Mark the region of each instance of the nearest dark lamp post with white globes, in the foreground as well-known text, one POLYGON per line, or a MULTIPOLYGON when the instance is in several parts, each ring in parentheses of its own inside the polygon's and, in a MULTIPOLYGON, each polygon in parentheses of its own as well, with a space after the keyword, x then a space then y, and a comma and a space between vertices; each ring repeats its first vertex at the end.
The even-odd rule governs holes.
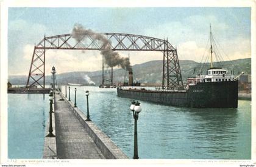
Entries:
POLYGON ((138 140, 137 140, 137 120, 138 114, 141 112, 140 102, 133 101, 130 105, 130 110, 134 118, 134 149, 133 149, 133 159, 138 159, 138 140))

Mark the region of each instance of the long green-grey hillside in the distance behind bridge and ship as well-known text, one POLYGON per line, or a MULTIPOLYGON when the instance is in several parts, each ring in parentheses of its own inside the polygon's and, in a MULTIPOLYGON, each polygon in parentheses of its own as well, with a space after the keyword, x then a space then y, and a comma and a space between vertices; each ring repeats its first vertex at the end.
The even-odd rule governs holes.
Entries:
MULTIPOLYGON (((148 83, 161 83, 162 82, 162 60, 154 60, 138 65, 133 65, 133 80, 138 82, 148 82, 148 83)), ((205 74, 207 68, 210 66, 209 63, 202 64, 194 62, 193 60, 180 60, 180 70, 182 72, 182 79, 187 80, 187 77, 195 76, 196 74, 205 74), (201 71, 199 71, 201 67, 201 71)), ((229 70, 235 71, 235 74, 245 71, 246 74, 251 74, 251 59, 238 59, 232 61, 222 62, 221 65, 214 64, 214 66, 222 66, 229 70)), ((124 69, 114 69, 113 71, 113 82, 127 82, 128 74, 124 69)), ((91 80, 96 85, 102 82, 102 71, 81 71, 81 72, 69 72, 57 74, 57 83, 67 84, 67 83, 79 83, 86 85, 91 80)), ((13 85, 26 85, 27 76, 9 76, 9 82, 13 85)), ((51 76, 46 76, 46 85, 51 82, 51 76)))

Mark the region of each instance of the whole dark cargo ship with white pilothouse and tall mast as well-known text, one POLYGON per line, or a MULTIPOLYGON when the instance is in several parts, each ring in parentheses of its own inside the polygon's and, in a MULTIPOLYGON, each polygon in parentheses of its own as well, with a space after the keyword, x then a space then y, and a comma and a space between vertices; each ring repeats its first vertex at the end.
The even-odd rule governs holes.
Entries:
POLYGON ((119 97, 155 102, 179 107, 237 108, 238 77, 227 69, 213 67, 212 30, 210 27, 210 68, 205 75, 187 79, 183 90, 146 90, 146 88, 117 88, 119 97))

